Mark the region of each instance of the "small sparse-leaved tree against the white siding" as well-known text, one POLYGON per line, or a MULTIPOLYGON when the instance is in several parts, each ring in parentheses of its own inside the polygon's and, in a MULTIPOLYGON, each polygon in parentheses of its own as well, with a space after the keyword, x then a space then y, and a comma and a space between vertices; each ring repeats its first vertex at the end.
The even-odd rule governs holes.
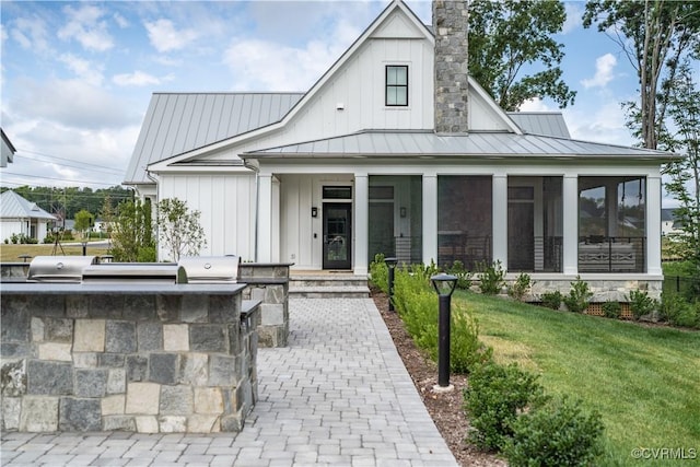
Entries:
POLYGON ((158 203, 159 241, 174 261, 179 261, 183 255, 198 255, 207 245, 199 215, 199 211, 190 211, 187 203, 177 198, 165 198, 158 203))

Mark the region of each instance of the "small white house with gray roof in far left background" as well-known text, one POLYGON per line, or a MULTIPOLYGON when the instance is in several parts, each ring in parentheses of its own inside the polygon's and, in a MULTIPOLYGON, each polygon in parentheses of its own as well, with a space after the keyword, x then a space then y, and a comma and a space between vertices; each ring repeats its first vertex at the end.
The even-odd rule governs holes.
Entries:
POLYGON ((56 218, 35 202, 27 201, 12 190, 0 195, 0 240, 10 241, 12 235, 26 235, 44 242, 47 224, 56 218))

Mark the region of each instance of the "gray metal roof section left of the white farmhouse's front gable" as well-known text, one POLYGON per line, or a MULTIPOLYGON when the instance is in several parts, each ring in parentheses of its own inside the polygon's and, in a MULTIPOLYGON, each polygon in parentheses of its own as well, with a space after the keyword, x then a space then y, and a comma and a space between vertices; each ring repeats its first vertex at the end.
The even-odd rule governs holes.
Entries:
POLYGON ((152 183, 145 167, 275 124, 304 93, 154 93, 125 183, 152 183))

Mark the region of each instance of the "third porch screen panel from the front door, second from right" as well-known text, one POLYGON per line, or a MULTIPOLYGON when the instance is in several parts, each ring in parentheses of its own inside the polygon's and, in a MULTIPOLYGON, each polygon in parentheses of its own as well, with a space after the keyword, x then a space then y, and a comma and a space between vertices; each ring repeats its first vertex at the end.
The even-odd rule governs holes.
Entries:
POLYGON ((562 177, 508 178, 508 270, 561 272, 562 177))

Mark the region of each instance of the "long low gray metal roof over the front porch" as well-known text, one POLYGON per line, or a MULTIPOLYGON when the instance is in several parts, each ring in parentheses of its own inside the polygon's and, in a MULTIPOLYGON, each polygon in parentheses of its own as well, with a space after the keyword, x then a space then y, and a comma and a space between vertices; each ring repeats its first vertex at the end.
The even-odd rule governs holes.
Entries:
POLYGON ((337 138, 307 141, 252 151, 244 159, 262 157, 361 157, 361 156, 431 156, 458 155, 517 157, 633 157, 666 160, 676 157, 663 151, 628 148, 567 138, 506 132, 470 132, 465 136, 435 135, 433 131, 360 131, 337 138))

